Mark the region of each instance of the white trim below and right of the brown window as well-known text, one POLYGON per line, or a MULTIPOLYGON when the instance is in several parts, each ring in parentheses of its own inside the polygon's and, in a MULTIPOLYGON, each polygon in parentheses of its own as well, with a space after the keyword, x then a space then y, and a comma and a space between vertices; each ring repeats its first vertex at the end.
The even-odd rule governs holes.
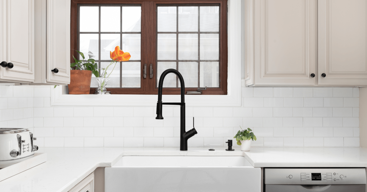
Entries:
MULTIPOLYGON (((185 95, 186 106, 241 106, 241 0, 228 0, 228 95, 185 95)), ((180 95, 163 95, 179 102, 180 95)), ((157 95, 66 95, 51 88, 52 106, 155 106, 157 95)))

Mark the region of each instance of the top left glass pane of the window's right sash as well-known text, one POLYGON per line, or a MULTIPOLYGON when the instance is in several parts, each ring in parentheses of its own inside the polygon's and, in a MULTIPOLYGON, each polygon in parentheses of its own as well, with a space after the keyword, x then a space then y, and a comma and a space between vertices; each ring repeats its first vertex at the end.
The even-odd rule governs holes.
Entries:
POLYGON ((159 32, 176 32, 177 7, 158 7, 157 27, 159 32))

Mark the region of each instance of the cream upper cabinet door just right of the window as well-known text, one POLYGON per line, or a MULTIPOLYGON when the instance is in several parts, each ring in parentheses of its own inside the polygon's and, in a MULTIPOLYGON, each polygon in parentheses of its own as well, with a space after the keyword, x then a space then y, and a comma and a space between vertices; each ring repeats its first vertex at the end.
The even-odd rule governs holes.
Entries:
POLYGON ((315 85, 315 0, 255 1, 255 86, 315 85))

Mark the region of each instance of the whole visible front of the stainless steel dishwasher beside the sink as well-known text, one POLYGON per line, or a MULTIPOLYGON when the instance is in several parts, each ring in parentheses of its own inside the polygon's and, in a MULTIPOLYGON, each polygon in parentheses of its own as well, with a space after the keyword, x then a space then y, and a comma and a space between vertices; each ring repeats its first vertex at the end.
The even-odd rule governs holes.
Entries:
POLYGON ((264 192, 366 192, 365 168, 265 168, 264 192))

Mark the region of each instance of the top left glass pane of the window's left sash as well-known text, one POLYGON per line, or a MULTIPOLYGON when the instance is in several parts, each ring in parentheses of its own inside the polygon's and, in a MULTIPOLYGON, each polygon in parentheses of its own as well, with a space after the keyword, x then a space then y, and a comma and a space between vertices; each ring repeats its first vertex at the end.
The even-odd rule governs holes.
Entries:
POLYGON ((80 32, 98 32, 98 7, 80 7, 80 32))

